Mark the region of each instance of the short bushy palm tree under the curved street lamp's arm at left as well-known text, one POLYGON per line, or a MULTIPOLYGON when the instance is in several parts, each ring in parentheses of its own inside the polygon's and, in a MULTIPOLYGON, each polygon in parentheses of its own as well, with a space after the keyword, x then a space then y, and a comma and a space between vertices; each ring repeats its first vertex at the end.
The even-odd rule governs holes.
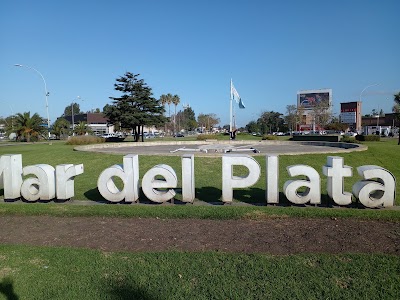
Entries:
POLYGON ((18 113, 15 115, 14 125, 16 128, 17 139, 26 138, 27 142, 31 138, 38 138, 39 135, 45 132, 45 128, 41 125, 44 120, 37 113, 31 116, 31 112, 18 113))

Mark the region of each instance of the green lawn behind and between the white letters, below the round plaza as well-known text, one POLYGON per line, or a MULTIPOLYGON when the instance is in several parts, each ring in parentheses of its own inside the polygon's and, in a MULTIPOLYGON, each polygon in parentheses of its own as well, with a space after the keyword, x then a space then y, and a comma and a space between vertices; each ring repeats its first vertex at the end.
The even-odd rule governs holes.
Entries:
MULTIPOLYGON (((352 185, 361 179, 356 171, 356 168, 361 165, 378 165, 391 171, 396 178, 400 178, 400 167, 398 164, 398 161, 400 161, 400 148, 395 139, 386 139, 381 142, 367 142, 365 144, 368 146, 367 151, 340 154, 344 158, 345 164, 353 167, 353 176, 344 180, 346 191, 351 192, 352 185)), ((92 201, 103 200, 97 190, 97 179, 100 173, 114 164, 122 164, 123 157, 122 155, 73 151, 73 146, 65 145, 63 142, 55 142, 51 145, 37 143, 0 147, 0 154, 6 153, 22 154, 24 166, 39 163, 47 163, 52 166, 63 163, 83 163, 85 171, 75 179, 74 199, 92 201)), ((298 156, 283 155, 279 157, 279 187, 282 203, 285 203, 282 194, 283 184, 285 181, 291 179, 287 174, 286 167, 295 164, 305 164, 315 168, 319 172, 321 177, 322 202, 324 205, 328 205, 327 180, 322 173, 322 166, 326 164, 327 156, 327 154, 308 154, 298 156)), ((265 157, 258 156, 256 160, 261 166, 261 178, 254 186, 235 190, 234 200, 237 202, 249 204, 265 203, 265 157)), ((141 155, 139 156, 140 177, 150 168, 160 163, 170 165, 176 171, 179 181, 176 198, 178 200, 181 199, 180 157, 141 155)), ((243 169, 235 168, 235 175, 244 175, 244 173, 243 169)), ((209 203, 222 203, 222 160, 220 157, 195 157, 195 187, 196 199, 209 203)), ((396 194, 399 195, 400 189, 398 185, 396 191, 396 194)), ((398 197, 396 204, 400 204, 398 197)), ((190 210, 190 208, 184 209, 190 210)))

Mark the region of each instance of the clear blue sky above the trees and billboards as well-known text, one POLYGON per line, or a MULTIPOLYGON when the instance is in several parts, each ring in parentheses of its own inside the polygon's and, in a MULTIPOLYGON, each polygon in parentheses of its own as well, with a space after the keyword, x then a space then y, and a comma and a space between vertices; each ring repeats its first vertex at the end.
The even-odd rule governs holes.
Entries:
MULTIPOLYGON (((390 112, 400 91, 400 1, 0 2, 0 116, 51 122, 77 96, 109 103, 115 79, 139 73, 154 97, 178 94, 196 113, 229 123, 229 82, 246 104, 238 125, 285 113, 299 90, 331 88, 333 111, 357 101, 390 112)), ((182 106, 178 106, 182 109, 182 106)))

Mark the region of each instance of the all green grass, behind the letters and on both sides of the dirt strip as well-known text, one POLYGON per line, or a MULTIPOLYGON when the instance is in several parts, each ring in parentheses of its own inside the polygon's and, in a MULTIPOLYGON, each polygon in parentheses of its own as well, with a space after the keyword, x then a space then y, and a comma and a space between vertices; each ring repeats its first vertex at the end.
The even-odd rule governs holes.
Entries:
MULTIPOLYGON (((400 178, 400 146, 395 140, 368 142, 365 152, 340 154, 352 166, 346 190, 359 180, 355 168, 375 164, 400 178)), ((83 163, 76 178, 76 199, 96 200, 97 178, 105 168, 122 163, 122 155, 73 151, 62 142, 52 145, 15 144, 0 154, 19 153, 23 165, 83 163)), ((281 156, 280 187, 288 180, 286 167, 306 164, 326 179, 325 154, 281 156)), ((257 157, 261 166, 265 158, 257 157)), ((140 156, 140 175, 152 166, 171 165, 180 178, 179 157, 140 156)), ((221 158, 195 158, 196 197, 216 202, 221 197, 221 158)), ((240 172, 240 170, 239 170, 240 172)), ((249 189, 235 190, 242 202, 264 197, 265 170, 249 189)), ((399 188, 397 187, 397 192, 399 188)), ((397 193, 398 194, 398 193, 397 193)), ((179 196, 179 195, 178 195, 179 196)), ((399 204, 399 199, 396 200, 399 204)), ((262 219, 279 215, 352 217, 399 221, 400 211, 382 209, 324 209, 299 207, 194 205, 0 205, 2 214, 57 216, 115 216, 162 218, 262 219)), ((7 230, 7 228, 2 228, 7 230)), ((385 254, 271 256, 222 252, 102 252, 73 248, 0 245, 0 299, 399 299, 400 259, 385 254)))

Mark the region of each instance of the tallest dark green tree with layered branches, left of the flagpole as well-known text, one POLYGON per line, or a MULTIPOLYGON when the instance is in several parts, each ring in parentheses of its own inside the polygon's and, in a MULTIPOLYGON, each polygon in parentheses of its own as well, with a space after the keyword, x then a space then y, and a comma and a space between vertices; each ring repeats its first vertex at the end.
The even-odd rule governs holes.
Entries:
POLYGON ((117 78, 114 88, 122 95, 110 97, 113 104, 104 107, 104 114, 112 124, 120 123, 122 128, 132 129, 136 142, 144 126, 160 126, 167 121, 161 102, 152 97, 151 88, 139 75, 127 72, 117 78))

